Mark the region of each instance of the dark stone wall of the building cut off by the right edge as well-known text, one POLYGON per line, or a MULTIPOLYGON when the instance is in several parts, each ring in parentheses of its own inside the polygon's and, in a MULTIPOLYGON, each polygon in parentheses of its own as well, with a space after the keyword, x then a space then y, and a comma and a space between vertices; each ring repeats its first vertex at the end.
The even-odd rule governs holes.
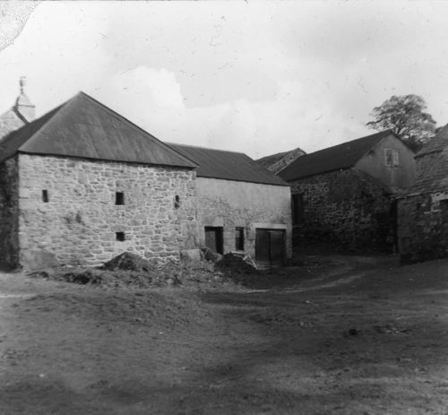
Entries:
POLYGON ((398 217, 401 263, 448 256, 448 194, 401 199, 398 217))

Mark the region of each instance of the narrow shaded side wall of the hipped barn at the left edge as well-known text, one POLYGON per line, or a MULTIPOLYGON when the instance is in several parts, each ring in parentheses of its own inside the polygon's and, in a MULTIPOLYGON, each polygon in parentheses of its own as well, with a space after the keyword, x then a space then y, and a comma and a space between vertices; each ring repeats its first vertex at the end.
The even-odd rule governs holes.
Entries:
POLYGON ((17 159, 0 163, 0 267, 12 269, 19 263, 17 159))

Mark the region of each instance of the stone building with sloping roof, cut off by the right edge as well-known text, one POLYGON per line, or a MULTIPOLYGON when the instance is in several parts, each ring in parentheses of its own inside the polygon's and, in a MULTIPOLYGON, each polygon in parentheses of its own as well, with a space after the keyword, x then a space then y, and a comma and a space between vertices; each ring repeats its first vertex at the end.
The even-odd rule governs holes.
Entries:
POLYGON ((448 256, 448 125, 416 155, 414 186, 398 202, 401 262, 448 256))

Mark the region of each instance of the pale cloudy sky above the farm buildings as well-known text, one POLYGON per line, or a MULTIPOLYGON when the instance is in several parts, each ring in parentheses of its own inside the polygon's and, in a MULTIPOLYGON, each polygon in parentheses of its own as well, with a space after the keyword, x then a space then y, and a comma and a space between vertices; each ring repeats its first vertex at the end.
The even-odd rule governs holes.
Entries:
POLYGON ((418 94, 448 123, 448 2, 2 7, 0 113, 23 75, 38 116, 84 91, 162 141, 254 159, 373 134, 392 95, 418 94))

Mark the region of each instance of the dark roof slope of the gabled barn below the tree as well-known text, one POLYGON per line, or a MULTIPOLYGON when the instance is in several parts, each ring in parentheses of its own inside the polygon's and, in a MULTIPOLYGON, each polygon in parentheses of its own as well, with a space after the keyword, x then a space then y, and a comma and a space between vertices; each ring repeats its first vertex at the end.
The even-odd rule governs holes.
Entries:
POLYGON ((367 135, 366 137, 352 140, 305 154, 293 161, 285 169, 280 170, 278 175, 287 181, 298 178, 310 177, 334 170, 349 169, 361 159, 367 151, 371 150, 384 137, 392 134, 390 130, 381 133, 367 135))

